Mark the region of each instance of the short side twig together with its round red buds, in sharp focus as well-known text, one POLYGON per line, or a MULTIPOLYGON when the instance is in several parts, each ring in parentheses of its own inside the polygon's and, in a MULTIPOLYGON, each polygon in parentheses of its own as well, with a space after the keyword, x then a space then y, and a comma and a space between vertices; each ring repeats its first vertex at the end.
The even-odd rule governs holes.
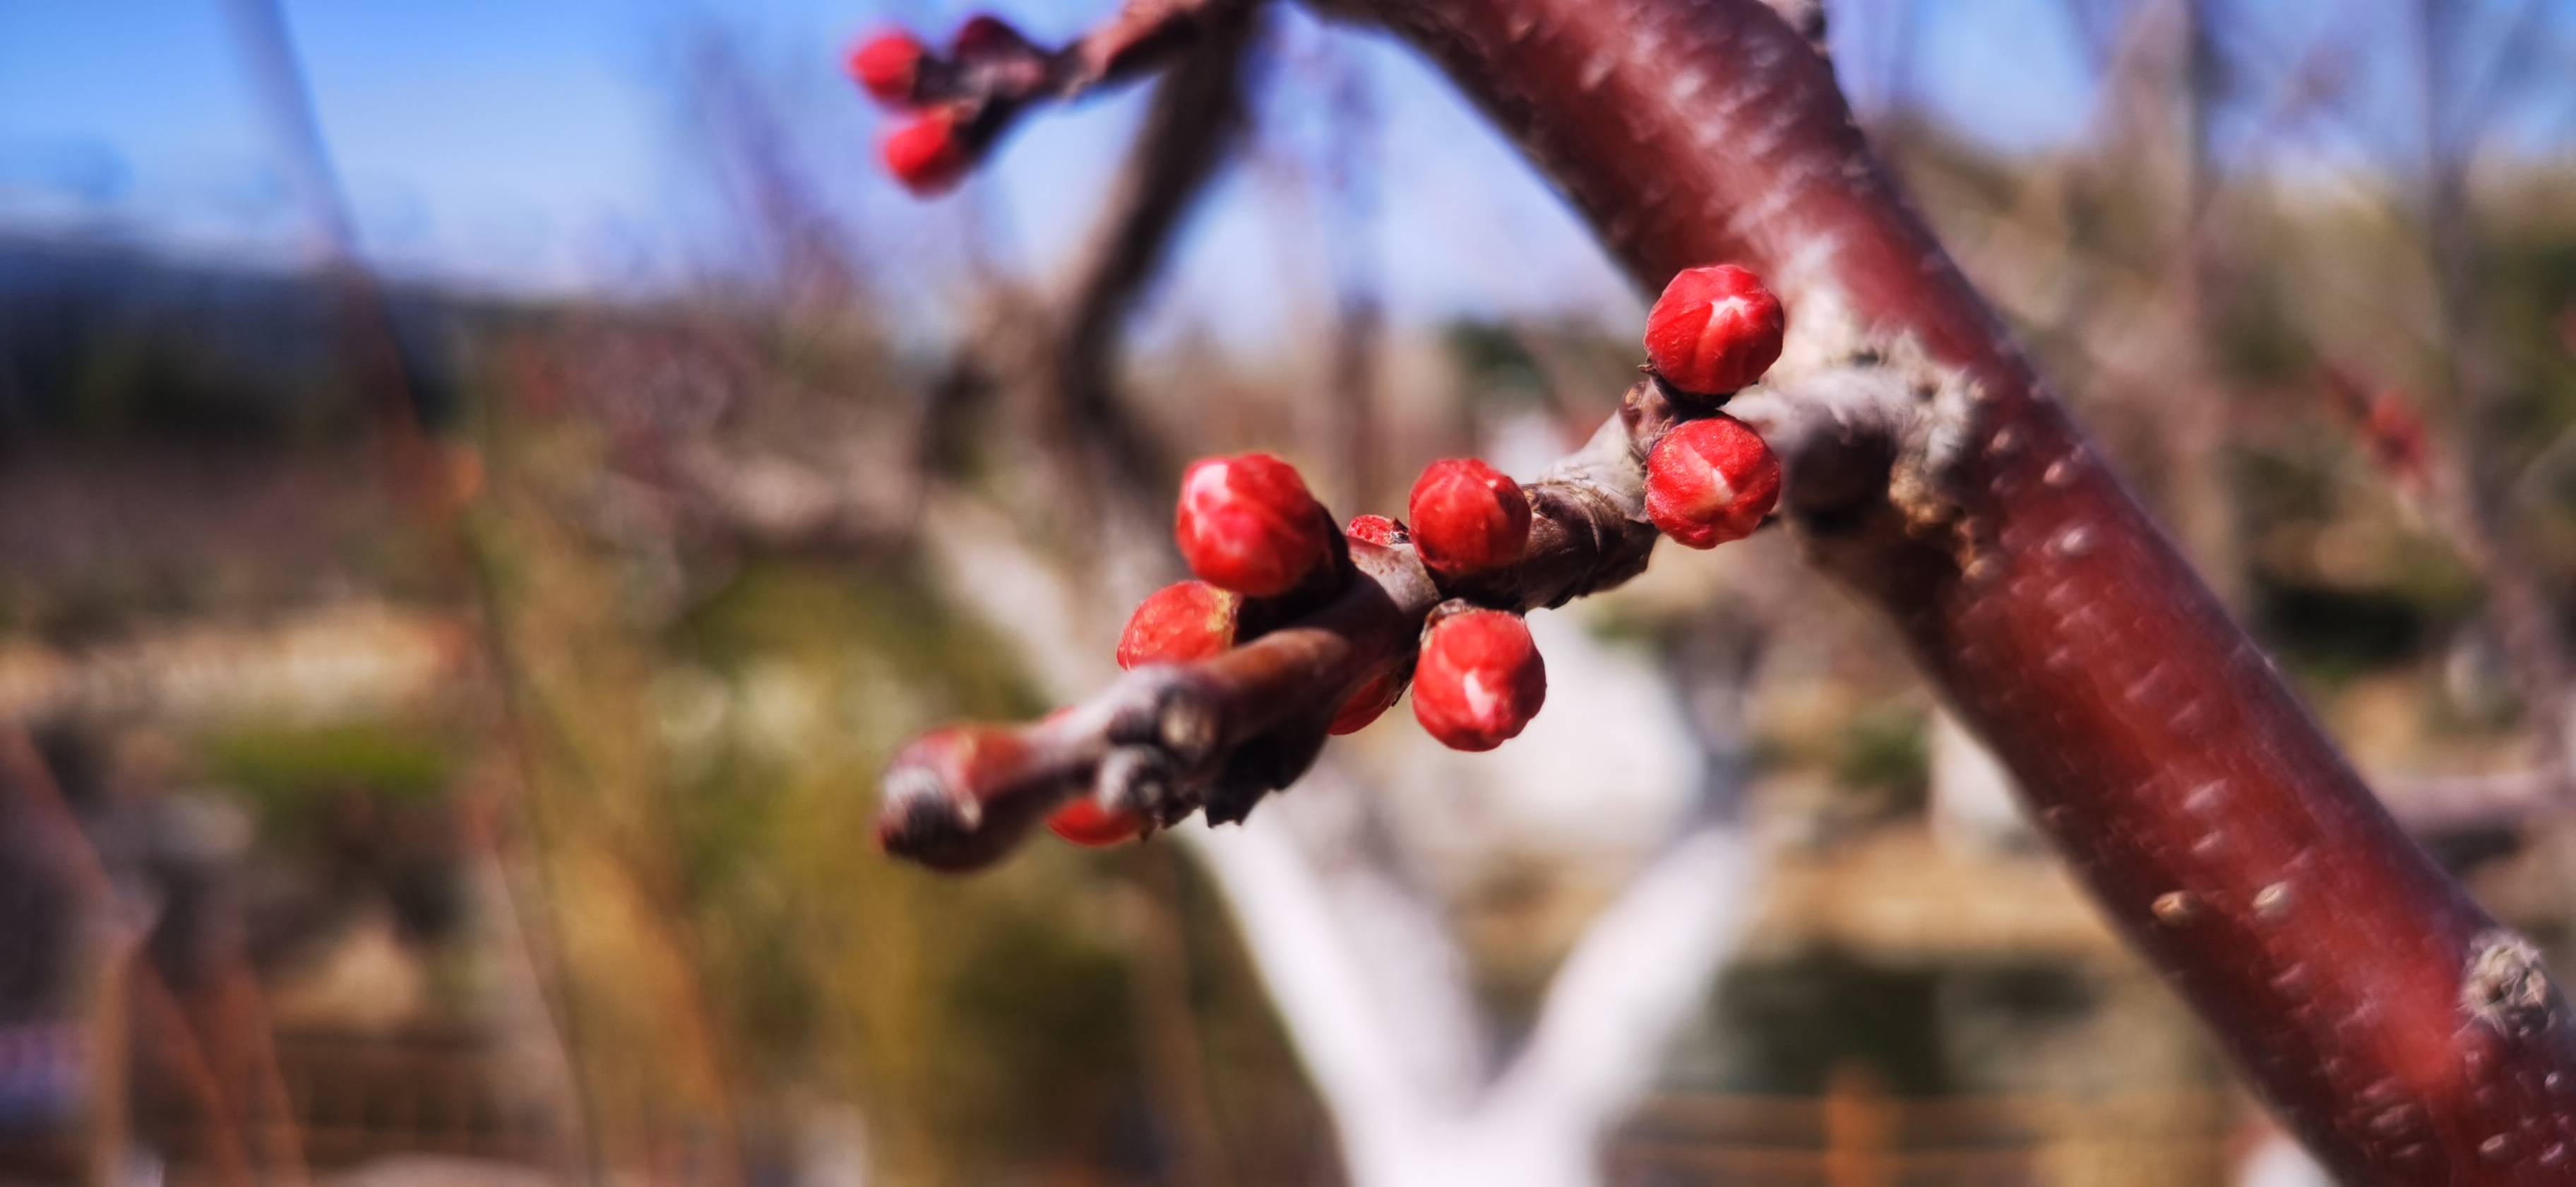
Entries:
MULTIPOLYGON (((881 75, 894 90, 902 72, 881 75)), ((1525 610, 1633 577, 1656 533, 1713 548, 1770 515, 1780 461, 1721 407, 1780 355, 1783 327, 1780 301, 1741 268, 1677 276, 1649 314, 1649 379, 1592 448, 1530 487, 1476 458, 1432 461, 1409 523, 1358 515, 1337 528, 1267 453, 1193 463, 1172 536, 1195 579, 1128 618, 1128 680, 1036 726, 914 742, 886 780, 881 837, 974 865, 1033 814, 1077 845, 1144 837, 1198 808, 1242 819, 1327 734, 1368 726, 1406 687, 1430 736, 1502 747, 1548 695, 1525 610)))

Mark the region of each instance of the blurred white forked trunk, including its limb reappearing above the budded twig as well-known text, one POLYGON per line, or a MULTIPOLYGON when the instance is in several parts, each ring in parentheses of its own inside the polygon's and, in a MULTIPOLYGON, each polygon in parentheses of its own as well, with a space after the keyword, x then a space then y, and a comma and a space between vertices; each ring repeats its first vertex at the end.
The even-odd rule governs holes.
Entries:
MULTIPOLYGON (((943 505, 925 528, 948 587, 1046 687, 1079 695, 1105 677, 1113 628, 1064 621, 1061 608, 1082 603, 1007 523, 943 505)), ((1692 700, 1734 713, 1739 698, 1692 700)), ((1762 875, 1734 811, 1734 724, 1700 726, 1708 775, 1692 811, 1584 927, 1528 1045, 1492 1074, 1466 958, 1440 904, 1370 845, 1368 788, 1324 762, 1293 796, 1267 801, 1255 827, 1175 829, 1224 893, 1340 1128, 1352 1184, 1600 1182, 1602 1138, 1654 1087, 1664 1048, 1705 1004, 1762 875), (1314 832, 1329 839, 1314 845, 1314 832)))

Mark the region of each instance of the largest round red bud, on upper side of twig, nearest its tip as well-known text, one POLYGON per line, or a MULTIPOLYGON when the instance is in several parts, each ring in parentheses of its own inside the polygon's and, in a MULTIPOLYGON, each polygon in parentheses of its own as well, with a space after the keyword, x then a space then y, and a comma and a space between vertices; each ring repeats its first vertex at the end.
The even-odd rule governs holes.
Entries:
POLYGON ((1180 476, 1172 536, 1190 572, 1226 590, 1275 597, 1332 554, 1332 520, 1296 466, 1267 453, 1206 458, 1180 476))

